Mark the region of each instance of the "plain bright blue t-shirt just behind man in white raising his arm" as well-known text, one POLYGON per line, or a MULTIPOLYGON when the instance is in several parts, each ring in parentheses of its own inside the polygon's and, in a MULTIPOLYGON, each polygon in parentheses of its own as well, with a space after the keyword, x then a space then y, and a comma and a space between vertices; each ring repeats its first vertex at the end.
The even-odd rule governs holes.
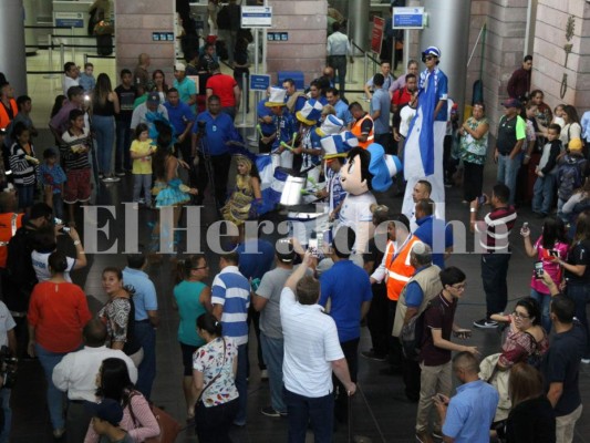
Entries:
POLYGON ((373 298, 371 281, 364 269, 351 260, 339 260, 320 277, 319 305, 331 300, 330 317, 337 323, 341 343, 361 336, 361 305, 373 298))

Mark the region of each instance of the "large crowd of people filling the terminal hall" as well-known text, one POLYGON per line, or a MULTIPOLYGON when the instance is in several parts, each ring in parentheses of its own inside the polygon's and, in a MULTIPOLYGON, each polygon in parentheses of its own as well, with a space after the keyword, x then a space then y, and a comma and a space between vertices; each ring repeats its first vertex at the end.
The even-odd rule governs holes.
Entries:
MULTIPOLYGON (((218 257, 210 287, 208 257, 177 262, 182 385, 199 442, 231 441, 231 425, 247 424, 250 328, 269 380, 270 404, 261 413, 286 416, 290 442, 303 442, 308 426, 318 442, 329 442, 334 422, 349 421, 359 354, 387 361, 385 373, 403 375, 407 400, 417 403, 420 442, 572 441, 582 410, 579 369, 590 363, 590 112, 581 121, 571 105, 551 112, 542 91, 530 91, 527 55, 508 83, 491 150, 498 183, 486 194, 485 105, 476 102, 470 116, 458 115, 438 69, 439 49, 423 52, 423 72, 411 60, 398 79, 383 61, 364 86, 366 112, 344 96, 350 47, 338 22, 333 31, 322 76, 307 91, 287 79, 257 103, 259 155, 244 150, 234 124, 246 105, 241 86, 221 73, 213 43, 188 64, 174 65, 172 87, 164 72, 149 72, 148 54, 138 56, 133 72, 121 71, 116 87, 104 73, 94 80, 90 63, 82 74, 65 63, 64 94, 49 123, 56 148, 45 150, 42 161, 34 151, 32 100, 14 99, 2 75, 0 344, 39 359, 55 439, 146 441, 161 432, 149 406, 159 324, 146 274, 149 251, 128 255, 124 269, 102 270, 107 301, 95 316, 70 277, 87 265, 77 206, 89 204, 93 188, 101 192, 131 173, 137 210, 173 206, 176 227, 183 207, 203 205, 209 187, 218 217, 238 226, 236 247, 218 257), (427 101, 431 85, 435 94, 427 101), (414 116, 431 105, 434 146, 445 153, 434 156, 444 185, 405 171, 407 183, 397 176, 392 187, 400 162, 393 155, 410 164, 404 153, 413 147, 414 116), (234 156, 238 175, 228 189, 234 156), (328 207, 329 241, 320 247, 293 236, 271 245, 245 228, 278 208, 260 158, 269 159, 272 177, 277 171, 306 177, 310 200, 328 207), (445 265, 457 233, 438 213, 441 190, 460 175, 486 296, 485 317, 473 326, 507 324, 491 356, 464 344, 472 331, 457 324, 455 311, 467 276, 445 265), (405 193, 410 205, 395 210, 379 204, 372 189, 405 193), (544 219, 539 238, 531 239, 528 224, 519 231, 526 254, 536 258, 530 297, 507 315, 510 233, 517 208, 529 202, 544 219), (360 352, 362 322, 372 348, 360 352), (460 383, 454 396, 453 374, 460 383)), ((247 69, 241 56, 232 61, 247 69)), ((159 245, 161 230, 156 224, 151 247, 159 245)), ((10 434, 11 388, 0 390, 0 442, 10 434)))

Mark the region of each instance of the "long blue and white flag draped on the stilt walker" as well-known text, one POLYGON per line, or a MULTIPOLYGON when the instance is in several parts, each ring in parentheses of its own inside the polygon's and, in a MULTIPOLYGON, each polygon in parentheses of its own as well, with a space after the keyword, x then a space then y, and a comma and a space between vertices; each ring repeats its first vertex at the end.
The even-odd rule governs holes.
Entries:
POLYGON ((424 178, 434 174, 434 107, 436 87, 434 74, 426 79, 426 85, 418 94, 418 109, 410 123, 404 148, 404 177, 424 178))

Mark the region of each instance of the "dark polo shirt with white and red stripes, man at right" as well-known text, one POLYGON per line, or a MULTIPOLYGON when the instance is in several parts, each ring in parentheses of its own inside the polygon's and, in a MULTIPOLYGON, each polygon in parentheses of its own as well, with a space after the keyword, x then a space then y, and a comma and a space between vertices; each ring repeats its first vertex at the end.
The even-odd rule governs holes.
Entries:
POLYGON ((475 224, 479 234, 479 245, 487 253, 499 254, 510 251, 509 236, 516 223, 514 206, 498 207, 486 214, 484 222, 475 224))

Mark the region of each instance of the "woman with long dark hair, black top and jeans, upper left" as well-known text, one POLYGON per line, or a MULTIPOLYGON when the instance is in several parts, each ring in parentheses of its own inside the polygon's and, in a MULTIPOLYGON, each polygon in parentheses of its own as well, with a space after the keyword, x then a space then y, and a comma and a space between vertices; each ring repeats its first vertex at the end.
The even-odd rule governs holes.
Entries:
POLYGON ((111 169, 115 146, 115 114, 118 114, 120 111, 118 96, 113 91, 111 79, 105 73, 99 74, 96 87, 92 93, 92 128, 96 134, 99 177, 104 183, 114 183, 121 179, 111 169))

